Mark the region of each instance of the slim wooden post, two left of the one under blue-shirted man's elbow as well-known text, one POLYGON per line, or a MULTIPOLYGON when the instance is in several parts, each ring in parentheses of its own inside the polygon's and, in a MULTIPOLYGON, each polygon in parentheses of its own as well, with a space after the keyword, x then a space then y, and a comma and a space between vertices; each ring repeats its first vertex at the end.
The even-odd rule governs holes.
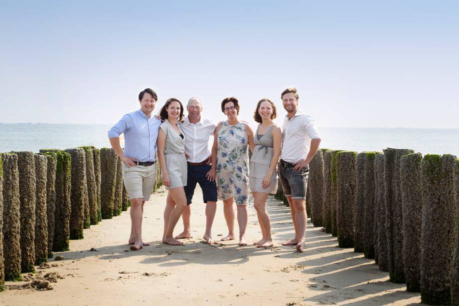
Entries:
POLYGON ((97 186, 95 183, 94 173, 94 153, 92 152, 92 147, 86 146, 81 148, 84 150, 84 156, 86 161, 86 189, 88 216, 86 216, 85 214, 85 218, 89 218, 90 225, 95 225, 99 222, 99 220, 97 216, 97 186))

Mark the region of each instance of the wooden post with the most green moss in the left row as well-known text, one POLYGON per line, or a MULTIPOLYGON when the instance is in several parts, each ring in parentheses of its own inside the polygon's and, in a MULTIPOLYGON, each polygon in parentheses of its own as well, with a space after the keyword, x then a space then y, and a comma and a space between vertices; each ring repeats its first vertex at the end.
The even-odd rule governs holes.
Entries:
POLYGON ((54 237, 52 251, 68 251, 70 239, 70 172, 71 158, 66 152, 56 152, 56 179, 55 179, 55 212, 54 237))

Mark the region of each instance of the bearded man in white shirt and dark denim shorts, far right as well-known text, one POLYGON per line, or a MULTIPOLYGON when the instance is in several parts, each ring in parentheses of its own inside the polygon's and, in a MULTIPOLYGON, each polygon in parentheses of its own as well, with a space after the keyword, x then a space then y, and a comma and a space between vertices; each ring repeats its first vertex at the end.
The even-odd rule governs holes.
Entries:
POLYGON ((280 95, 287 115, 282 125, 282 151, 279 178, 283 193, 290 205, 295 237, 282 246, 296 246, 304 251, 306 233, 306 186, 309 162, 317 153, 320 135, 311 116, 298 109, 296 88, 287 88, 280 95))

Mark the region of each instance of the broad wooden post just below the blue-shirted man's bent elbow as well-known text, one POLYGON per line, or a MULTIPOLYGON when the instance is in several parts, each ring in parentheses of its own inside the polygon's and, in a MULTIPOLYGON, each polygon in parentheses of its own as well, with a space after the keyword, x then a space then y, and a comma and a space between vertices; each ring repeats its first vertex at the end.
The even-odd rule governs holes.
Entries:
POLYGON ((100 206, 102 219, 113 217, 113 198, 118 156, 109 148, 100 149, 100 206))

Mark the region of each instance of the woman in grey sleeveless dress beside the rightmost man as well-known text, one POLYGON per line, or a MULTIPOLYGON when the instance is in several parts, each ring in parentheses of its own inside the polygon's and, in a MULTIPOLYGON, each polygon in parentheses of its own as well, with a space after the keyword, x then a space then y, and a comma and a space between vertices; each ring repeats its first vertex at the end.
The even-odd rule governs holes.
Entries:
POLYGON ((263 98, 258 101, 253 119, 259 124, 253 136, 255 148, 250 158, 249 172, 249 187, 262 234, 261 239, 253 243, 257 248, 272 246, 271 222, 266 211, 266 199, 269 194, 275 194, 277 191, 276 166, 282 141, 280 128, 272 122, 275 117, 275 105, 271 100, 263 98))

